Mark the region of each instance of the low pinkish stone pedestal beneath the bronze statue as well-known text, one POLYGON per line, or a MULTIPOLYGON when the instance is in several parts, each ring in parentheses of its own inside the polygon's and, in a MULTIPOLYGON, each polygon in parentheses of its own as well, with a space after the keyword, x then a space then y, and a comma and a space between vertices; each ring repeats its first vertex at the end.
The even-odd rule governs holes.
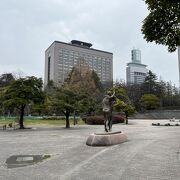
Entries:
POLYGON ((93 133, 86 141, 88 146, 111 146, 127 141, 127 136, 121 132, 93 133))

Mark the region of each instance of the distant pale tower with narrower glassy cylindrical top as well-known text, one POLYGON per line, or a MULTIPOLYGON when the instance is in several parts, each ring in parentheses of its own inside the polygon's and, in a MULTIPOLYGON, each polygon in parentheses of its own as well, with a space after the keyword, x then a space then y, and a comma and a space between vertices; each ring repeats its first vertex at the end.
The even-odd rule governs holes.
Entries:
POLYGON ((132 62, 127 63, 126 81, 127 84, 141 84, 144 82, 147 75, 147 65, 141 64, 141 51, 133 49, 131 51, 132 62))

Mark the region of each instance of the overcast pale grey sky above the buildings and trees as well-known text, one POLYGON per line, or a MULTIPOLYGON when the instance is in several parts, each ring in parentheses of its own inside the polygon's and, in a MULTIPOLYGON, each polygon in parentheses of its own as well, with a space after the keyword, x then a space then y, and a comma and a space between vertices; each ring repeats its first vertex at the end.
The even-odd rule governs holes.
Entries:
POLYGON ((143 0, 1 0, 0 74, 44 77, 44 52, 54 41, 77 39, 114 55, 114 80, 126 79, 131 50, 165 81, 178 85, 177 52, 143 39, 143 0))

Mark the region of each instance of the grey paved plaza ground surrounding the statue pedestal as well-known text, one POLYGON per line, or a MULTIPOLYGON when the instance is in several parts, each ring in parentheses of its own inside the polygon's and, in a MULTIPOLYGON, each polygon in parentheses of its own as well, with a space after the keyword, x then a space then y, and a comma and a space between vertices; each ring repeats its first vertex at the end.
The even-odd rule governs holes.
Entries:
POLYGON ((180 126, 153 122, 164 120, 113 125, 128 141, 107 147, 86 145, 89 134, 103 132, 103 126, 0 129, 0 180, 180 180, 180 126), (6 160, 14 155, 51 157, 8 168, 6 160))

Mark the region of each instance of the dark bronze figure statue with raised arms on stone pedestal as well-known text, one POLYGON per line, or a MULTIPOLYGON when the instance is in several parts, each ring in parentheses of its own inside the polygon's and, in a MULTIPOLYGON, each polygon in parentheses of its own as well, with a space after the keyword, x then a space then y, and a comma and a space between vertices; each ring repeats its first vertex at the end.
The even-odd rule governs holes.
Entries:
POLYGON ((116 100, 115 93, 111 94, 111 92, 108 91, 107 95, 105 95, 102 101, 103 113, 104 113, 104 128, 106 132, 108 132, 108 129, 109 131, 111 131, 112 129, 112 111, 115 100, 116 100))

